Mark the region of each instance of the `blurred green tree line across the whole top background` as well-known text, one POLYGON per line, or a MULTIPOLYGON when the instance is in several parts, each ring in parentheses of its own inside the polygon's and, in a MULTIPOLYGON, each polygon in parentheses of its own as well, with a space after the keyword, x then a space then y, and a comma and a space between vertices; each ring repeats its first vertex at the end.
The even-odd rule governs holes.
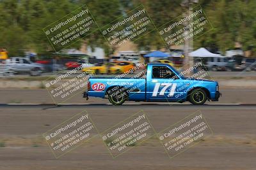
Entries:
MULTIPOLYGON (((51 51, 52 47, 42 29, 71 11, 86 4, 99 27, 111 23, 143 4, 156 27, 182 14, 182 0, 1 0, 0 1, 0 48, 10 55, 22 55, 24 50, 38 53, 51 51)), ((256 1, 255 0, 200 0, 213 29, 195 39, 195 48, 205 46, 214 51, 234 48, 240 42, 244 50, 256 52, 256 1)), ((152 25, 150 29, 156 27, 152 25)), ((70 47, 78 48, 82 42, 92 48, 100 46, 106 55, 113 52, 101 32, 95 31, 70 47)), ((163 39, 157 30, 137 39, 140 50, 163 48, 163 39)))

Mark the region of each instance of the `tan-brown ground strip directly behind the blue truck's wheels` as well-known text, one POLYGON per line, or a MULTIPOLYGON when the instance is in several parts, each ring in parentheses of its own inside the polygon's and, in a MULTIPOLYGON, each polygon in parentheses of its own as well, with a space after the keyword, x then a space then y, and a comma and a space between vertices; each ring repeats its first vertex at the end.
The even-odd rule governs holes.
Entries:
MULTIPOLYGON (((220 89, 222 96, 218 102, 206 104, 256 104, 256 89, 220 89)), ((108 99, 90 97, 88 101, 81 97, 82 91, 63 104, 108 104, 108 99)), ((0 89, 0 104, 54 104, 46 89, 0 89)), ((128 101, 125 104, 154 104, 128 101)), ((177 104, 177 103, 158 103, 177 104)), ((184 104, 189 104, 188 102, 184 104)))

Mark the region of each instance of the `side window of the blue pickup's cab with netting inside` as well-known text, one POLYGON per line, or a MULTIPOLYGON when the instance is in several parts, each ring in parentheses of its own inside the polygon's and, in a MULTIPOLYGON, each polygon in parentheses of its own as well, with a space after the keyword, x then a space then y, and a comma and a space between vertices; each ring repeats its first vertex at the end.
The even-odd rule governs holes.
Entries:
POLYGON ((177 75, 173 73, 166 66, 153 66, 152 78, 177 78, 177 75))

